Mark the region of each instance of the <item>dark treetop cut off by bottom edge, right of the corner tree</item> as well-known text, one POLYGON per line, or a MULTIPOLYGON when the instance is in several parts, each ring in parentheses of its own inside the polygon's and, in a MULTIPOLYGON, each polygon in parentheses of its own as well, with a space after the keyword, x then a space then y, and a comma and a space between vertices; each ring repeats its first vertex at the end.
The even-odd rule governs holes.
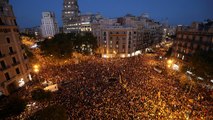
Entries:
POLYGON ((67 120, 68 116, 64 107, 59 105, 48 106, 36 112, 29 120, 67 120))

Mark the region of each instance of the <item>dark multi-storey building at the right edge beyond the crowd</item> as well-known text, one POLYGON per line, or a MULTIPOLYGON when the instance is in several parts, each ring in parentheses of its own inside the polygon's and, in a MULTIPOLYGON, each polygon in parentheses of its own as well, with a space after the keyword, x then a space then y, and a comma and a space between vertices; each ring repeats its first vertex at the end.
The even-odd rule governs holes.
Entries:
POLYGON ((173 57, 188 61, 197 50, 213 51, 213 20, 177 27, 173 57))

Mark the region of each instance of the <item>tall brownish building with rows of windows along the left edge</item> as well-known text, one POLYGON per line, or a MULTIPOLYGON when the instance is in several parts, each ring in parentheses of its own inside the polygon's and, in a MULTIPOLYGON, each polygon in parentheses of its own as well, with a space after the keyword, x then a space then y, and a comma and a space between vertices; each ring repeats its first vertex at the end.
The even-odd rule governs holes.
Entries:
POLYGON ((12 6, 0 1, 0 96, 9 95, 31 79, 12 6))

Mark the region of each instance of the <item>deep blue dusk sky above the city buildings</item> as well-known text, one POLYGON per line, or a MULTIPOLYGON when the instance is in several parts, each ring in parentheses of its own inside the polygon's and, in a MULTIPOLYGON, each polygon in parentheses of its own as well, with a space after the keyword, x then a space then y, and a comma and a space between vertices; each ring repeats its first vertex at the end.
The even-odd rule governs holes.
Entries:
MULTIPOLYGON (((63 0, 10 0, 10 4, 21 28, 39 26, 43 11, 55 12, 62 26, 63 0)), ((78 4, 81 13, 99 12, 107 18, 148 13, 157 21, 168 18, 171 25, 213 19, 213 0, 79 0, 78 4)))

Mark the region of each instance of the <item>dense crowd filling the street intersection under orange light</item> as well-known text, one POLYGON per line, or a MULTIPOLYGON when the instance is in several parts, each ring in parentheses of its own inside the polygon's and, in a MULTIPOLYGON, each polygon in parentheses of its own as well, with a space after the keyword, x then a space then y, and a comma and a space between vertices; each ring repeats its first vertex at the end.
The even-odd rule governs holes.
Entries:
POLYGON ((70 119, 212 119, 211 93, 186 89, 178 75, 154 71, 157 63, 150 56, 91 57, 46 65, 37 79, 60 85, 52 104, 63 105, 70 119))

